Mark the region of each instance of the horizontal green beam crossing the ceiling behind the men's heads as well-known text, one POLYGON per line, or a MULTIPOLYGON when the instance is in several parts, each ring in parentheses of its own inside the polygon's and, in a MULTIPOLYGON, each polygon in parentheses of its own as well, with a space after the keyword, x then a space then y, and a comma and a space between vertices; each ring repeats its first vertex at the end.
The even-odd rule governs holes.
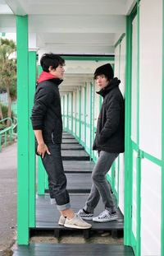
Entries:
POLYGON ((75 60, 75 61, 114 61, 115 57, 114 55, 111 56, 84 56, 84 55, 79 55, 79 56, 66 56, 66 55, 61 55, 62 58, 65 60, 75 60))

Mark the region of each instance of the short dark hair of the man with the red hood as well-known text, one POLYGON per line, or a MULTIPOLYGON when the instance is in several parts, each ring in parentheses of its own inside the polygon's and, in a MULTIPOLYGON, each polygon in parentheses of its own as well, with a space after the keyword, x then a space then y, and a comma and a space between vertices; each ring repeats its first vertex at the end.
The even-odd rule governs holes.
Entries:
POLYGON ((49 72, 48 68, 56 69, 59 65, 64 66, 65 60, 57 54, 43 54, 40 58, 40 65, 43 68, 43 71, 49 72))

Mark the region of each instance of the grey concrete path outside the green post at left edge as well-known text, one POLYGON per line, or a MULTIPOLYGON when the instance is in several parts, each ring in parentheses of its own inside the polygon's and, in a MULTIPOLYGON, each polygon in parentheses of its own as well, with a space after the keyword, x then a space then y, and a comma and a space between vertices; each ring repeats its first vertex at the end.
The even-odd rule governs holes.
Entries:
POLYGON ((0 152, 0 255, 16 240, 16 142, 0 152))

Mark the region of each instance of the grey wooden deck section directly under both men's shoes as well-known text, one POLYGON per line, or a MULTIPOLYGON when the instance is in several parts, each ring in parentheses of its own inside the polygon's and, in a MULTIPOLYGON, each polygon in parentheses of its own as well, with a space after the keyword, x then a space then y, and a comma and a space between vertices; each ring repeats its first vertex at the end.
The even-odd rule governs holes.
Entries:
MULTIPOLYGON (((84 207, 84 203, 88 198, 89 193, 70 193, 71 207, 75 212, 78 212, 80 208, 84 207)), ((94 215, 98 216, 100 212, 103 212, 103 202, 100 200, 98 206, 95 209, 94 215)), ((57 207, 50 204, 49 195, 37 196, 36 198, 36 228, 34 230, 66 230, 64 226, 58 225, 59 212, 57 207)), ((106 223, 98 223, 88 221, 91 223, 92 230, 123 230, 124 221, 121 211, 118 209, 118 219, 116 221, 109 221, 106 223)))

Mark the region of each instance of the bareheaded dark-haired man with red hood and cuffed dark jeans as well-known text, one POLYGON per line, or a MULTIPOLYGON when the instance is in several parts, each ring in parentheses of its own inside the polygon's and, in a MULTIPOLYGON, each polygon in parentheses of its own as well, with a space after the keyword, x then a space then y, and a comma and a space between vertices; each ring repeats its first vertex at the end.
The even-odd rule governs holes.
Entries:
POLYGON ((31 121, 36 137, 36 152, 41 156, 48 173, 48 187, 52 204, 57 204, 61 217, 59 225, 75 229, 89 229, 91 225, 83 221, 71 210, 70 197, 66 190, 66 175, 63 170, 62 113, 58 86, 64 76, 65 61, 55 54, 43 54, 43 67, 34 95, 31 121))

